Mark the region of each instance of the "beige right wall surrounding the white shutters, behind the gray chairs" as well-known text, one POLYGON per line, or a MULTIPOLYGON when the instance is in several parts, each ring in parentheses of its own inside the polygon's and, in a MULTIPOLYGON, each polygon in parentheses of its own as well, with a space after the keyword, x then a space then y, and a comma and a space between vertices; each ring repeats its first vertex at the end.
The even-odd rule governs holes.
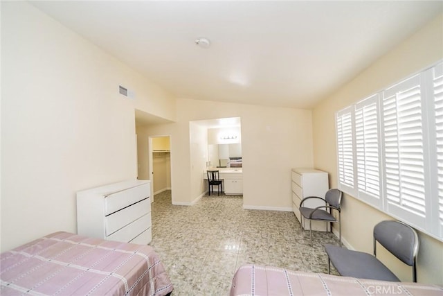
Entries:
MULTIPOLYGON (((399 44, 347 85, 341 87, 313 111, 314 164, 329 172, 329 184, 337 186, 336 134, 334 113, 402 78, 431 66, 443 58, 443 16, 399 44)), ((342 231, 345 241, 356 250, 372 252, 372 228, 380 220, 391 219, 377 209, 345 195, 342 231)), ((443 243, 420 234, 418 280, 443 284, 443 243)), ((381 254, 382 260, 403 280, 410 280, 410 269, 397 259, 381 254)))

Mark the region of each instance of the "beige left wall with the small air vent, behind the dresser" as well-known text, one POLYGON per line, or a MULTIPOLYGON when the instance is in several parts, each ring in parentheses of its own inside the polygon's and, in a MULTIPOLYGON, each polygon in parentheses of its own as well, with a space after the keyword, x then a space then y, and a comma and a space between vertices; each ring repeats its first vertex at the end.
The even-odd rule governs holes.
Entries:
POLYGON ((175 116, 167 92, 24 1, 1 2, 1 74, 2 251, 76 232, 75 191, 136 177, 135 108, 175 116))

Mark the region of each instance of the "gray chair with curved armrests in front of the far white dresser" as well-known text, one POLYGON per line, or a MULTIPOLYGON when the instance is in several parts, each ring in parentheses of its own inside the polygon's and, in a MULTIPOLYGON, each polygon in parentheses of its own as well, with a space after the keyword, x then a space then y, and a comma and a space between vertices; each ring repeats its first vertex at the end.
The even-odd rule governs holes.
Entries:
MULTIPOLYGON (((326 222, 326 231, 327 226, 330 223, 338 223, 338 234, 339 234, 339 240, 341 245, 341 198, 343 197, 343 192, 341 192, 338 189, 329 189, 326 194, 325 198, 319 198, 318 196, 308 196, 307 198, 303 198, 300 202, 300 216, 302 217, 302 228, 305 229, 305 219, 309 220, 309 230, 311 234, 311 246, 312 246, 312 220, 317 221, 325 221, 326 222), (316 207, 316 208, 309 208, 309 207, 303 207, 303 203, 306 200, 310 199, 319 199, 323 200, 325 202, 324 206, 316 207), (338 219, 336 219, 332 215, 332 210, 338 211, 338 219)), ((331 227, 332 231, 332 227, 331 227)))

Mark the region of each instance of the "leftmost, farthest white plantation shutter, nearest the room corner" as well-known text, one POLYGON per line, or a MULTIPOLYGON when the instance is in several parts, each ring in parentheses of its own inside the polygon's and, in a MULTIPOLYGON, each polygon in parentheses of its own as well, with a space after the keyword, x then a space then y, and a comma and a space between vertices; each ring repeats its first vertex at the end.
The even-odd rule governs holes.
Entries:
POLYGON ((354 193, 354 143, 352 108, 336 113, 338 189, 354 193))

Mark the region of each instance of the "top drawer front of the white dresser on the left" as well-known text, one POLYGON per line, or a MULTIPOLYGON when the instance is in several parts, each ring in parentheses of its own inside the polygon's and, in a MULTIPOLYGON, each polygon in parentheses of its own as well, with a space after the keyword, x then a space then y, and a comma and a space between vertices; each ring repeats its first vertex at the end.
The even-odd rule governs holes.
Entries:
POLYGON ((150 191, 150 184, 147 183, 108 195, 105 198, 105 215, 114 213, 114 211, 147 198, 150 195, 150 191))

